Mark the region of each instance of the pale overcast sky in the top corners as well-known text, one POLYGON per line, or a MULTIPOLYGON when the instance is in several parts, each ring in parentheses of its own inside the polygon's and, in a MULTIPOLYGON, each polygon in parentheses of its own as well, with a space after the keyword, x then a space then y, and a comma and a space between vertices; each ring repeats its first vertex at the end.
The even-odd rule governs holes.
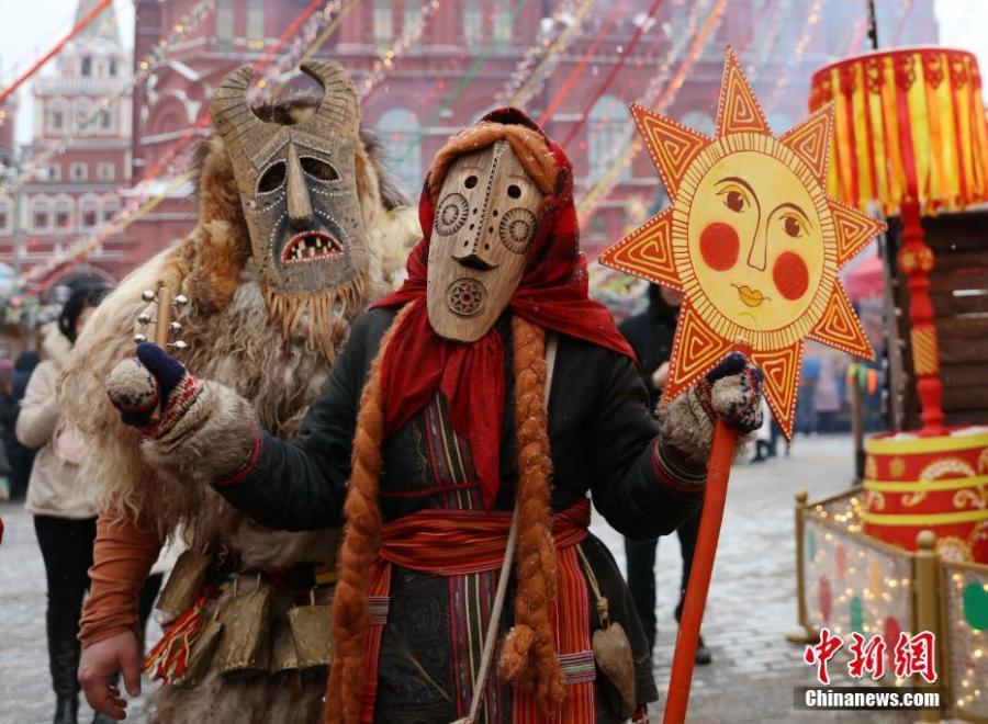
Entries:
MULTIPOLYGON (((885 0, 891 1, 891 0, 885 0)), ((824 0, 824 8, 864 7, 864 0, 824 0)), ((972 50, 988 68, 988 0, 935 0, 941 44, 972 50)), ((124 46, 133 45, 132 0, 114 0, 124 46)), ((900 0, 902 8, 910 0, 900 0)), ((72 26, 78 0, 0 0, 0 88, 31 66, 72 26)), ((879 29, 879 38, 880 38, 879 29)), ((20 93, 18 139, 31 139, 30 91, 20 93)))

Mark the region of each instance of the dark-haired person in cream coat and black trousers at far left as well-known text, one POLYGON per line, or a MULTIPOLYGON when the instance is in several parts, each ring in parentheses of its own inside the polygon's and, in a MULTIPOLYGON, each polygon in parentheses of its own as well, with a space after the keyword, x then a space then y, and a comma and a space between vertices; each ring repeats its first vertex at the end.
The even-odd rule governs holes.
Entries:
MULTIPOLYGON (((79 476, 87 450, 76 428, 63 419, 56 384, 76 337, 108 290, 72 292, 57 326, 42 343, 45 359, 34 369, 18 416, 16 437, 25 448, 40 448, 31 472, 25 509, 45 562, 48 607, 45 623, 48 666, 55 690, 55 724, 75 724, 79 706, 79 616, 89 588, 96 540, 99 480, 79 476)), ((160 579, 158 579, 160 584, 160 579)), ((96 722, 103 720, 98 715, 96 722)))

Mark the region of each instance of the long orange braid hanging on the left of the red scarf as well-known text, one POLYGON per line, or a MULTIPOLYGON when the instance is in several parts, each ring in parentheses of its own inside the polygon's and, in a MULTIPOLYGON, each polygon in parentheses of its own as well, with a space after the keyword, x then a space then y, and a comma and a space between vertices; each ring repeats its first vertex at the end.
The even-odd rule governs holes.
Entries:
POLYGON ((384 437, 381 363, 391 336, 411 308, 408 305, 397 314, 381 340, 360 395, 352 472, 344 504, 347 522, 339 554, 339 579, 333 598, 333 664, 323 712, 326 724, 356 724, 360 721, 360 701, 367 680, 364 649, 370 632, 368 572, 381 547, 381 508, 378 505, 384 437))

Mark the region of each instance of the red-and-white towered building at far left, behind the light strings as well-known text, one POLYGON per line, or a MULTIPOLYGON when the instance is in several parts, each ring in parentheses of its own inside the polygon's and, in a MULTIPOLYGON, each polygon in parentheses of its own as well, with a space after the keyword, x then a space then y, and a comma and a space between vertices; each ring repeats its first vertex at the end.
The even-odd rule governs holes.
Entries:
MULTIPOLYGON (((77 21, 94 4, 96 0, 80 0, 77 21)), ((34 79, 32 142, 21 149, 22 163, 37 162, 40 155, 86 125, 65 151, 0 196, 0 262, 30 269, 80 236, 96 233, 117 213, 121 189, 131 178, 131 101, 125 95, 102 110, 100 101, 123 88, 130 76, 131 59, 111 7, 34 79)), ((9 128, 12 132, 12 123, 9 128)), ((124 271, 119 251, 98 249, 91 260, 92 272, 108 279, 124 271)))

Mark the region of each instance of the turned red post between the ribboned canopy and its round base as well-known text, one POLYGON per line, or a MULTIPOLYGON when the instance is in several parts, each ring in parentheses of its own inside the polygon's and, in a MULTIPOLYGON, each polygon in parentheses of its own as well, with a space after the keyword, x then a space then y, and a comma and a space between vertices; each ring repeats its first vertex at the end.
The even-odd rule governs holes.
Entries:
POLYGON ((916 391, 920 398, 920 419, 923 427, 920 435, 946 434, 941 407, 940 347, 936 327, 933 326, 933 304, 930 301, 930 271, 933 269, 933 251, 927 245, 923 225, 920 220, 919 202, 903 201, 901 204, 902 249, 899 251, 899 268, 906 274, 909 289, 909 341, 912 347, 912 371, 916 375, 916 391))

